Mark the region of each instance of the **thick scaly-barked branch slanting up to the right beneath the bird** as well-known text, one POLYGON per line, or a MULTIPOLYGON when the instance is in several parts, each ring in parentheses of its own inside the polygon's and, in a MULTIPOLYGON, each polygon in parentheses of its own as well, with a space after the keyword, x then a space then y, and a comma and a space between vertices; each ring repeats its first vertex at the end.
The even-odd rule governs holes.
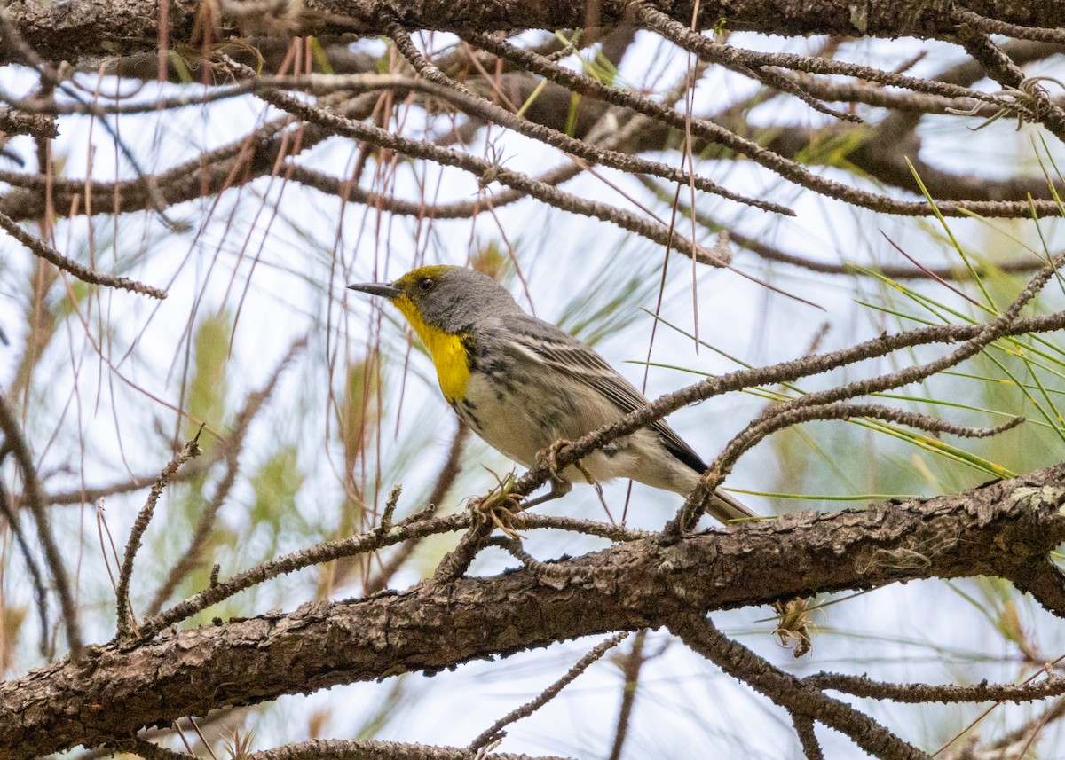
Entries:
POLYGON ((437 673, 677 616, 919 578, 996 575, 1065 616, 1065 465, 963 494, 634 541, 491 578, 89 647, 0 684, 0 757, 406 672, 437 673))

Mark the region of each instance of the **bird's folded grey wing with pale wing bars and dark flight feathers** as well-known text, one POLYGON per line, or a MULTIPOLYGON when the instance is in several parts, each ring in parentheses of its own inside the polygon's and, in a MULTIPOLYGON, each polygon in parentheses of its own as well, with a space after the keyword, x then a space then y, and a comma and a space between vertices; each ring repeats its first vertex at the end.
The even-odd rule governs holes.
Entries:
MULTIPOLYGON (((508 332, 523 348, 547 366, 579 378, 610 399, 622 414, 645 407, 646 396, 604 361, 591 347, 550 323, 527 315, 514 325, 508 319, 508 332), (517 328, 517 329, 514 329, 517 328)), ((697 473, 706 472, 706 464, 679 435, 659 419, 648 426, 661 440, 667 450, 697 473)))

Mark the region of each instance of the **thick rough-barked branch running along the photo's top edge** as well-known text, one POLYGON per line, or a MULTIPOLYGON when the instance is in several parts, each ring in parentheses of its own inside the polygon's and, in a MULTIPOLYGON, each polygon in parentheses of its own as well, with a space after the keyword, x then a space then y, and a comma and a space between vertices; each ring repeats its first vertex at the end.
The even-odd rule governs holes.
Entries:
MULTIPOLYGON (((240 2, 230 2, 239 7, 240 2)), ((285 3, 279 2, 278 6, 285 3)), ((296 3, 290 2, 293 7, 296 3)), ((307 0, 302 10, 279 22, 299 33, 383 34, 391 10, 408 29, 492 32, 515 29, 576 29, 617 24, 628 5, 620 0, 307 0)), ((258 6, 262 6, 259 4, 258 6)), ((661 2, 677 21, 691 22, 691 2, 661 2)), ((732 31, 782 35, 869 35, 943 37, 956 22, 947 0, 718 0, 702 1, 697 26, 712 29, 724 21, 732 31)), ((976 13, 1007 23, 1052 29, 1065 27, 1065 0, 988 0, 966 3, 976 13)), ((169 9, 171 47, 193 44, 200 4, 180 0, 169 9)), ((281 14, 283 15, 283 11, 281 14)), ((160 38, 159 6, 142 0, 22 0, 9 5, 16 28, 46 59, 81 59, 154 52, 160 38)), ((260 17, 262 14, 258 14, 260 17)), ((261 21, 262 19, 258 19, 261 21)), ((232 28, 228 30, 232 31, 232 28)), ((0 42, 0 56, 12 48, 0 42)))

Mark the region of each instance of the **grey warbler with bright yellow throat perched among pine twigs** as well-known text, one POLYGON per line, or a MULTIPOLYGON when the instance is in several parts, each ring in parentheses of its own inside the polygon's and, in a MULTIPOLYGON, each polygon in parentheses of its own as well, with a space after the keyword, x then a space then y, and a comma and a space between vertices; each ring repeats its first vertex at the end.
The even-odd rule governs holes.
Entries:
MULTIPOLYGON (((576 440, 648 403, 590 346, 526 314, 505 287, 474 269, 424 266, 395 282, 348 287, 399 309, 432 357, 440 390, 459 418, 527 467, 556 441, 576 440)), ((632 478, 688 494, 704 472, 699 455, 658 420, 557 473, 553 495, 589 478, 632 478)), ((722 522, 757 516, 720 492, 708 511, 722 522)))

